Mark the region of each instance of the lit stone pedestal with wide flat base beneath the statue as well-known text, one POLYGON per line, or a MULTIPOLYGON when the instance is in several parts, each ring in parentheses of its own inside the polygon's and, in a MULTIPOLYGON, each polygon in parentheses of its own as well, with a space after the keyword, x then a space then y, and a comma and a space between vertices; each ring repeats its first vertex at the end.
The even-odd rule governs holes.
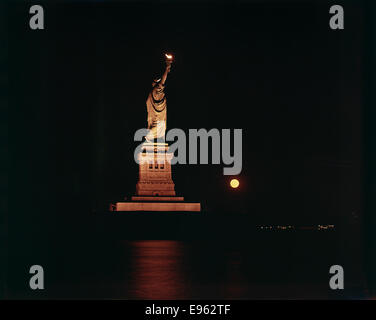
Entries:
POLYGON ((111 211, 201 211, 201 204, 177 197, 167 143, 144 143, 138 154, 139 177, 131 201, 111 204, 111 211))

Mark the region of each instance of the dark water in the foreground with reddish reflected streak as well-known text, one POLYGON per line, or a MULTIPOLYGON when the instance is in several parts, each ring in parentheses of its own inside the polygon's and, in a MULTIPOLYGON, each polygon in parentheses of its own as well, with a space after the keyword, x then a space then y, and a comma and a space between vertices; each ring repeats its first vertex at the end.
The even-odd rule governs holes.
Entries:
POLYGON ((38 252, 30 250, 22 258, 13 257, 13 266, 44 266, 46 289, 38 293, 28 289, 27 269, 16 267, 9 270, 7 297, 362 298, 361 261, 349 250, 338 243, 336 232, 258 232, 233 240, 122 240, 71 235, 38 252), (329 289, 328 272, 333 264, 345 269, 344 291, 329 289))

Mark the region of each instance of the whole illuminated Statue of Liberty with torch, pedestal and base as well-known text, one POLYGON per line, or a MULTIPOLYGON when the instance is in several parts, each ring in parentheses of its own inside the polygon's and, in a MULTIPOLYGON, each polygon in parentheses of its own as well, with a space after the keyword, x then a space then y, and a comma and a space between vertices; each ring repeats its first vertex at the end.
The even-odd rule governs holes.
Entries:
POLYGON ((171 70, 172 55, 166 54, 166 70, 161 79, 153 81, 153 89, 146 100, 148 131, 146 142, 136 149, 139 164, 136 194, 130 201, 111 204, 111 211, 201 211, 199 202, 186 202, 176 196, 172 180, 173 152, 164 141, 166 133, 167 104, 164 93, 167 75, 171 70), (162 141, 161 141, 162 140, 162 141))

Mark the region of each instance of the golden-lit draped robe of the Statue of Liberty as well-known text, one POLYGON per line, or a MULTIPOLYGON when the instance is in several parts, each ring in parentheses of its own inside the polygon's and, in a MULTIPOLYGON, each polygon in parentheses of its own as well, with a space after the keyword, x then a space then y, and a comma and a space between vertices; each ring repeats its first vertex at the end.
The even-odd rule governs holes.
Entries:
POLYGON ((152 142, 165 136, 167 121, 167 103, 164 93, 165 85, 157 83, 146 100, 148 111, 148 129, 146 140, 152 142))

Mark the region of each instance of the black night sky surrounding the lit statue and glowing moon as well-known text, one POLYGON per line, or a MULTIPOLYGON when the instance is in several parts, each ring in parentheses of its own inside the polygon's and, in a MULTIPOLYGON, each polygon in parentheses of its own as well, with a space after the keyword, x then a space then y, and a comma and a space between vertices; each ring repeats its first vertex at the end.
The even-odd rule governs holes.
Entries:
POLYGON ((243 129, 241 188, 223 165, 176 165, 178 195, 261 221, 350 221, 361 210, 363 15, 347 4, 333 31, 325 2, 98 1, 46 4, 46 29, 31 31, 28 7, 12 6, 9 216, 25 229, 71 226, 134 194, 133 135, 170 51, 168 129, 243 129))

